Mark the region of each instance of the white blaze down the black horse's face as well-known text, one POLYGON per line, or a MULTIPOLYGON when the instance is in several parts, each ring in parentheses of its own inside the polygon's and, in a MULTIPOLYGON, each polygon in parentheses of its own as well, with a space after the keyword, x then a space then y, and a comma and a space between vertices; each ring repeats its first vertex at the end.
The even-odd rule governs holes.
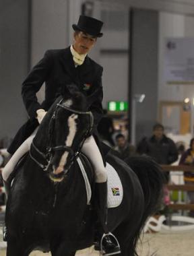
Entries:
MULTIPOLYGON (((77 117, 78 117, 77 115, 73 114, 69 117, 69 119, 67 121, 68 127, 69 127, 69 134, 67 135, 67 139, 65 141, 65 146, 67 146, 67 147, 71 147, 71 145, 73 143, 73 139, 74 139, 75 133, 77 131, 76 122, 75 122, 75 119, 77 119, 77 117)), ((63 166, 65 166, 65 164, 67 162, 68 154, 69 154, 69 152, 65 151, 63 156, 61 156, 59 166, 57 167, 57 170, 54 171, 55 174, 58 174, 63 171, 63 166)))

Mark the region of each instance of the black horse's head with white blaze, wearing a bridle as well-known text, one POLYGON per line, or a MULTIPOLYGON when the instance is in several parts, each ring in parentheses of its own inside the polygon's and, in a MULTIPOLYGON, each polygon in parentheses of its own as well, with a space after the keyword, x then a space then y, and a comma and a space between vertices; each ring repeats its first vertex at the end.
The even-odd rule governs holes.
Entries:
POLYGON ((50 179, 60 182, 90 133, 93 119, 92 113, 86 111, 86 97, 76 91, 66 93, 49 112, 52 117, 47 124, 49 162, 46 170, 50 179))

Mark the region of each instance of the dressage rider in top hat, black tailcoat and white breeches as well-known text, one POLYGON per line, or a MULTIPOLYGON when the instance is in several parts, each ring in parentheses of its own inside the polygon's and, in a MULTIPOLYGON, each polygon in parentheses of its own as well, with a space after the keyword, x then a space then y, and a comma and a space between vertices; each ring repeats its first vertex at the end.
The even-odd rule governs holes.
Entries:
POLYGON ((105 255, 113 255, 120 252, 119 245, 113 243, 106 225, 106 200, 107 200, 107 174, 100 150, 93 135, 96 134, 96 126, 102 117, 102 67, 88 57, 88 52, 96 44, 97 38, 103 34, 100 32, 103 22, 94 18, 80 15, 79 21, 73 24, 73 44, 66 49, 46 51, 44 57, 34 66, 22 84, 22 98, 29 115, 28 121, 15 135, 8 148, 12 154, 5 166, 2 176, 6 192, 9 193, 10 174, 18 160, 30 149, 30 144, 38 123, 42 121, 46 111, 55 99, 63 91, 64 86, 77 84, 80 92, 90 96, 95 92, 95 97, 90 102, 90 110, 94 116, 94 129, 92 135, 86 139, 82 152, 91 160, 95 175, 96 189, 98 193, 99 219, 106 236, 103 245, 105 255), (38 103, 36 92, 45 82, 45 99, 38 103), (95 156, 95 157, 94 157, 95 156))

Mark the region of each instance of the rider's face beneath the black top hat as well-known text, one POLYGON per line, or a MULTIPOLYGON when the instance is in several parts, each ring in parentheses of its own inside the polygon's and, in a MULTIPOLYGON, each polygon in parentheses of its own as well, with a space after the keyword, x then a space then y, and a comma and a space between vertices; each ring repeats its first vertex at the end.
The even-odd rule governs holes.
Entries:
POLYGON ((73 48, 80 55, 86 54, 96 43, 96 37, 82 31, 74 33, 73 48))

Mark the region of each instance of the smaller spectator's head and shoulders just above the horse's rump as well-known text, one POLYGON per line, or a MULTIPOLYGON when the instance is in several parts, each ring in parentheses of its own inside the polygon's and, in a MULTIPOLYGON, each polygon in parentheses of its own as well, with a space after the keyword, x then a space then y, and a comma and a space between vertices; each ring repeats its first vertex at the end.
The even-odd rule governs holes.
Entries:
POLYGON ((135 146, 128 143, 127 139, 123 134, 117 134, 115 139, 117 146, 115 147, 114 151, 111 151, 111 154, 118 156, 122 160, 125 160, 125 158, 128 158, 129 156, 134 156, 136 154, 135 146))

